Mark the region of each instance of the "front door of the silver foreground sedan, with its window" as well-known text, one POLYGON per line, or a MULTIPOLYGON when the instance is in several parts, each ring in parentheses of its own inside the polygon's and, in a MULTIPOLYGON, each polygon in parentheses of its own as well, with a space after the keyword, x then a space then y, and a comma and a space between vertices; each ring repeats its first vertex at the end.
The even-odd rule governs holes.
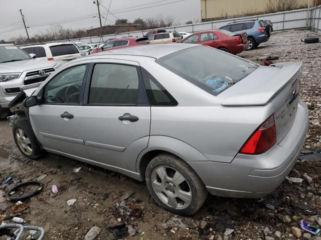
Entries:
POLYGON ((79 61, 53 73, 38 92, 41 104, 29 109, 34 132, 48 151, 87 156, 78 117, 83 111, 81 100, 87 71, 88 62, 79 61))

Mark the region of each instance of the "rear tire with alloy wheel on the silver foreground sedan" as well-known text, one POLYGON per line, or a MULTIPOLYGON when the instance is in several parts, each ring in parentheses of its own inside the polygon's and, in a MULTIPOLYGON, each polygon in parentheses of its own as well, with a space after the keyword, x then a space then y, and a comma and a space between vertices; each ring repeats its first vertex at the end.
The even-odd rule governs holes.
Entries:
POLYGON ((145 179, 153 199, 176 214, 192 215, 208 195, 204 183, 191 166, 172 154, 155 156, 147 165, 145 179))

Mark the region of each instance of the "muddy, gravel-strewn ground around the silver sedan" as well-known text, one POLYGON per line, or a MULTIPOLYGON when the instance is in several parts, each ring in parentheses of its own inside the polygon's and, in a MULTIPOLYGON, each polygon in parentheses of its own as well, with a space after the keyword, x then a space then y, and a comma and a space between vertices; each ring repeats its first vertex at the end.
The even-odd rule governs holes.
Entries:
MULTIPOLYGON (((275 62, 303 62, 301 99, 308 104, 310 118, 304 152, 321 149, 321 43, 301 42, 300 39, 307 36, 313 34, 299 30, 273 33, 270 40, 257 49, 239 54, 255 59, 271 53, 280 57, 275 62)), ((285 179, 275 194, 262 202, 209 196, 194 216, 182 217, 156 205, 143 182, 54 154, 37 161, 26 159, 13 141, 8 122, 0 121, 0 182, 14 174, 10 184, 0 186, 0 215, 15 203, 3 196, 11 187, 47 174, 41 180, 44 190, 24 201, 30 207, 20 216, 29 224, 44 227, 44 239, 83 239, 92 226, 101 228, 96 239, 114 239, 108 227, 123 222, 137 231, 126 239, 310 238, 307 234, 303 236, 303 231, 300 236, 291 227, 299 227, 297 222, 301 218, 321 226, 321 161, 317 161, 321 160, 321 154, 312 156, 316 160, 304 160, 311 154, 302 155, 290 173, 291 177, 302 177, 302 183, 285 179), (82 168, 73 172, 75 167, 82 168), (54 184, 59 189, 57 194, 51 192, 54 184), (128 191, 134 193, 121 202, 121 196, 128 191), (67 201, 73 198, 77 201, 69 206, 67 201), (141 216, 127 214, 134 207, 141 209, 141 216), (226 228, 233 232, 228 234, 226 228)), ((5 222, 11 222, 11 218, 5 222)), ((27 233, 23 239, 30 235, 27 233)))

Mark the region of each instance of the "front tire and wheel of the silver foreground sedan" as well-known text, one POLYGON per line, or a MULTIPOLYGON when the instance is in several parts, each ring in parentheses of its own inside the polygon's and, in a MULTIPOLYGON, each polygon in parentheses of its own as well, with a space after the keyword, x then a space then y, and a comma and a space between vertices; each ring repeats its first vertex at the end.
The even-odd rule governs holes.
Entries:
POLYGON ((24 156, 37 159, 45 153, 27 119, 15 122, 13 135, 16 145, 24 156))

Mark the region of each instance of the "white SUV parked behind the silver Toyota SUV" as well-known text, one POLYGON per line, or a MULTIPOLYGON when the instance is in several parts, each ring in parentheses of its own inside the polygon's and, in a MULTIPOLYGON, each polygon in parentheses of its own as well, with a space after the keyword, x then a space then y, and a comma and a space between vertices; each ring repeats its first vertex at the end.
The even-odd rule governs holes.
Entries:
POLYGON ((78 48, 72 42, 41 43, 24 46, 21 49, 36 54, 37 59, 55 60, 60 63, 81 57, 78 48))

